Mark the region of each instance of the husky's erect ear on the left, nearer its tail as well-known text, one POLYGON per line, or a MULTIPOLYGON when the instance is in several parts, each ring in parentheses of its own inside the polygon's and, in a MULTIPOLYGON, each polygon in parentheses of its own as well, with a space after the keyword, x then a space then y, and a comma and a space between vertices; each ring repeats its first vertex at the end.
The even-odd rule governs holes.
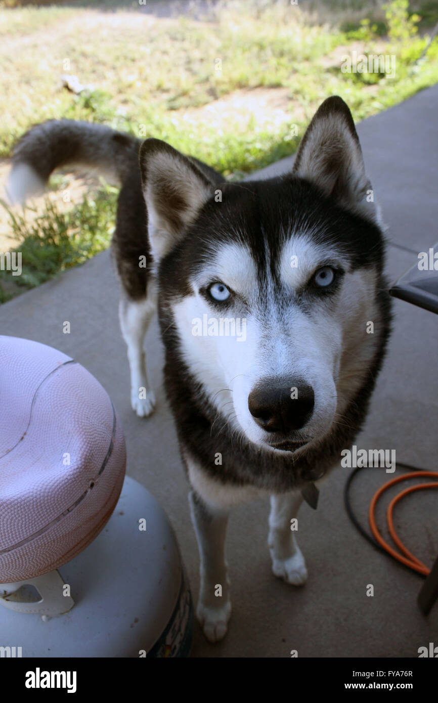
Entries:
POLYGON ((214 187, 191 159, 160 139, 141 145, 140 170, 150 246, 158 261, 195 221, 214 187))

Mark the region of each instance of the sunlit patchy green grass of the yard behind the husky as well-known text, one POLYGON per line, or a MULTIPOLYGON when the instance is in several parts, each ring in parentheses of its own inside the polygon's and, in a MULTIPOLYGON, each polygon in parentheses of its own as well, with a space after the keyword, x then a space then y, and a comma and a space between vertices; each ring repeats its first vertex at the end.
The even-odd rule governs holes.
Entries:
MULTIPOLYGON (((437 39, 415 64, 427 44, 427 35, 419 36, 416 27, 434 21, 438 3, 424 4, 426 19, 421 5, 408 9, 404 0, 390 5, 385 18, 380 2, 330 0, 340 18, 330 25, 285 1, 224 2, 201 21, 153 18, 131 3, 111 4, 113 11, 105 12, 96 4, 0 9, 0 94, 8 96, 2 104, 0 156, 8 156, 35 122, 67 117, 157 136, 236 179, 293 153, 314 110, 329 95, 342 96, 359 121, 438 82, 437 39), (344 6, 356 14, 350 17, 344 6), (364 53, 394 53, 396 77, 342 73, 339 63, 327 65, 337 46, 358 42, 364 53), (221 72, 215 70, 218 59, 221 72), (91 87, 80 96, 63 89, 60 75, 69 72, 91 87), (269 110, 263 119, 236 114, 213 120, 196 109, 257 88, 285 91, 288 103, 280 120, 271 119, 269 110)), ((19 290, 108 246, 115 193, 107 187, 67 212, 48 200, 37 217, 9 213, 22 252, 19 290)), ((0 272, 0 287, 6 275, 0 272)))

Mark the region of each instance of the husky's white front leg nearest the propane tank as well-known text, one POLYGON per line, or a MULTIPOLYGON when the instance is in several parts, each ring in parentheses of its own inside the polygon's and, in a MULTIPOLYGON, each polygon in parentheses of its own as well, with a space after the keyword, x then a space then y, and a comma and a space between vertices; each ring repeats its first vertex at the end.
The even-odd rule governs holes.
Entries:
POLYGON ((200 556, 200 591, 196 615, 209 642, 226 635, 231 601, 225 561, 228 512, 206 505, 192 489, 188 494, 200 556))

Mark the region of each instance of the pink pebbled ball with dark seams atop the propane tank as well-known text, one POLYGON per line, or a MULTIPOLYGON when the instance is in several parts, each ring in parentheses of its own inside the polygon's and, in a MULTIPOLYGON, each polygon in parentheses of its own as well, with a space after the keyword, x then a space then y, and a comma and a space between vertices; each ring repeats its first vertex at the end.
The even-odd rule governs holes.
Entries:
POLYGON ((126 449, 105 389, 69 356, 0 335, 0 583, 70 561, 122 490, 126 449))

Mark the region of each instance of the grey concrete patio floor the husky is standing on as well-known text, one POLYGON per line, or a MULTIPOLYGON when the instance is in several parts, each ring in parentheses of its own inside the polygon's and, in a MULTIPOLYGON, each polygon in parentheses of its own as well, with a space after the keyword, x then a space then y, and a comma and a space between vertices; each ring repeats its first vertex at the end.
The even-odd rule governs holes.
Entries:
MULTIPOLYGON (((389 225, 390 280, 438 239, 437 114, 438 86, 434 86, 358 127, 367 171, 389 225)), ((284 172, 292 161, 285 159, 252 177, 284 172)), ((157 322, 146 338, 157 409, 145 420, 137 418, 129 404, 117 295, 110 254, 105 252, 0 306, 0 334, 57 347, 82 363, 108 391, 126 434, 127 472, 169 515, 196 599, 198 548, 161 384, 157 322), (70 335, 63 334, 66 320, 70 335)), ((389 353, 356 444, 395 449, 400 462, 437 470, 438 318, 406 302, 396 301, 394 309, 389 353)), ((302 588, 287 586, 271 574, 268 502, 250 503, 232 513, 227 541, 231 624, 218 645, 207 643, 197 625, 193 657, 289 657, 292 649, 299 657, 417 657, 418 647, 438 644, 438 603, 427 618, 416 605, 423 579, 374 550, 350 524, 342 499, 348 472, 342 468, 333 472, 316 512, 307 505, 300 512, 298 541, 309 569, 309 581, 302 588), (366 596, 369 583, 374 586, 373 598, 366 596)), ((361 472, 353 505, 364 526, 373 493, 393 476, 378 469, 361 472)), ((384 516, 382 507, 381 526, 384 516)), ((438 554, 435 491, 402 501, 395 516, 406 546, 432 565, 438 554)))

